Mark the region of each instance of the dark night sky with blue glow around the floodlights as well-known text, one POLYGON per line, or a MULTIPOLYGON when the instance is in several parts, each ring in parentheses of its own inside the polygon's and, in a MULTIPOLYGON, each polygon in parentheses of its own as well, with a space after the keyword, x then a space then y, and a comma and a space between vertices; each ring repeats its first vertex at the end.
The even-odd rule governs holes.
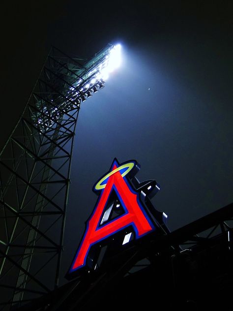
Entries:
POLYGON ((114 157, 161 185, 152 201, 171 230, 233 201, 232 1, 30 2, 1 4, 1 148, 51 45, 87 59, 122 45, 121 67, 80 111, 66 254, 114 157))

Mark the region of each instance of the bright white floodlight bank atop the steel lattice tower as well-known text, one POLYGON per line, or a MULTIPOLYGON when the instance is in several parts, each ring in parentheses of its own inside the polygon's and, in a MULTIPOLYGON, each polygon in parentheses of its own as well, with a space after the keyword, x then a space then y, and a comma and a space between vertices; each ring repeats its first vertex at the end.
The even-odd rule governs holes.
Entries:
POLYGON ((110 45, 104 51, 97 53, 93 61, 87 62, 87 67, 79 73, 77 81, 64 93, 65 100, 51 99, 51 107, 45 105, 42 113, 34 116, 37 126, 44 130, 52 126, 63 113, 79 108, 88 97, 104 88, 105 81, 120 63, 120 44, 110 45))

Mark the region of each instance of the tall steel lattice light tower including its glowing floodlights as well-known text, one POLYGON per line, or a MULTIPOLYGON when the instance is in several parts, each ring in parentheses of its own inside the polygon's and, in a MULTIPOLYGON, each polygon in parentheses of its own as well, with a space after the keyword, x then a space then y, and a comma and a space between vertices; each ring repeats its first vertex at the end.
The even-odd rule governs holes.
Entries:
POLYGON ((58 286, 80 106, 119 66, 120 49, 83 62, 53 47, 0 152, 1 310, 58 286))

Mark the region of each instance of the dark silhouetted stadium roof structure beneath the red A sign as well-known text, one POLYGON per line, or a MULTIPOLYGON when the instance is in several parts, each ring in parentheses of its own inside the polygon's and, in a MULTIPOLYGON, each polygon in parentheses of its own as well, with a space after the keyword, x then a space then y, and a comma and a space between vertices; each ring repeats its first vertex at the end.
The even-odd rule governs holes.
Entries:
POLYGON ((122 306, 145 307, 150 302, 159 310, 174 306, 179 310, 230 310, 232 222, 230 204, 171 233, 148 234, 139 244, 129 244, 109 258, 97 273, 80 276, 20 310, 74 311, 98 306, 119 310, 122 306), (187 300, 190 297, 193 300, 187 300))

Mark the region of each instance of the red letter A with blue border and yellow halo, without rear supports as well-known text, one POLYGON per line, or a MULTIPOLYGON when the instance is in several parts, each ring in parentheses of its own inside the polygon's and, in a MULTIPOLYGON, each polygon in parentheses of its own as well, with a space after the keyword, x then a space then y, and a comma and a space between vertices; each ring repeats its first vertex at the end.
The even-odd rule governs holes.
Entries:
POLYGON ((93 187, 94 191, 101 191, 101 193, 87 221, 84 237, 69 274, 86 265, 88 252, 92 246, 120 230, 133 226, 137 239, 155 228, 140 200, 139 192, 133 189, 126 179, 126 175, 133 174, 136 168, 136 161, 119 165, 117 159, 114 159, 110 171, 93 187), (117 199, 113 200, 113 195, 117 199), (115 206, 110 202, 115 202, 115 206), (121 209, 115 217, 113 217, 114 208, 121 209))

